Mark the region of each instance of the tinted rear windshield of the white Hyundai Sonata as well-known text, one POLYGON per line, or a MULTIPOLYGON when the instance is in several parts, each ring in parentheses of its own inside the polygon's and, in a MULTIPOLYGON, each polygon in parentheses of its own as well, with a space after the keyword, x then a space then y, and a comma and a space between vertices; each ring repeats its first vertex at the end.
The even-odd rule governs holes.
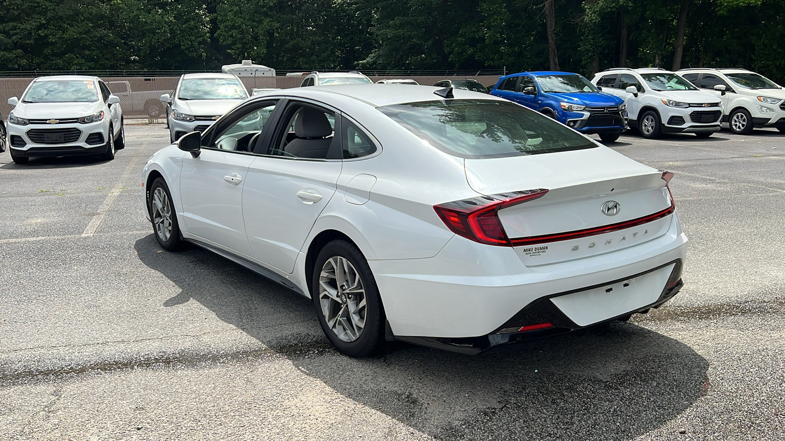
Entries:
POLYGON ((502 158, 597 147, 559 122, 506 101, 425 101, 378 110, 433 147, 461 158, 502 158))

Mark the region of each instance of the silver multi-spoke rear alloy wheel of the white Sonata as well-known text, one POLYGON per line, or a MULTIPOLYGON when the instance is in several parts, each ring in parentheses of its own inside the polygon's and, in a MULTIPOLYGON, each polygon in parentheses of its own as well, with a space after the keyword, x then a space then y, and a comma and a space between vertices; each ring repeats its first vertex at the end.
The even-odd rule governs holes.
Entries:
POLYGON ((341 341, 356 341, 365 329, 363 279, 345 257, 327 259, 319 274, 319 304, 327 327, 341 341))

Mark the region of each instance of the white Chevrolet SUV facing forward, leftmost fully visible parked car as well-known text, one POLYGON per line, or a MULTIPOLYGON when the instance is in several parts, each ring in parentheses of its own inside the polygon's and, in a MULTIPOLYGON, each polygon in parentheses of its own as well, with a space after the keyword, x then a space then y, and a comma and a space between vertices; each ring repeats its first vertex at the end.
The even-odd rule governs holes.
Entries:
POLYGON ((35 156, 100 155, 115 159, 126 146, 120 99, 97 77, 57 75, 35 78, 22 99, 9 98, 11 159, 35 156))

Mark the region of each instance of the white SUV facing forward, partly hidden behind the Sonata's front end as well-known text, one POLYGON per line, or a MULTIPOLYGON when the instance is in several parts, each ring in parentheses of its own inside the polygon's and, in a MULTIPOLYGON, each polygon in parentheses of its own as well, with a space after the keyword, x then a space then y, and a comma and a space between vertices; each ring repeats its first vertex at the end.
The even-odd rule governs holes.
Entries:
POLYGON ((166 123, 172 142, 185 133, 203 132, 229 109, 248 97, 243 82, 232 74, 185 74, 177 82, 174 96, 161 95, 169 106, 166 123))

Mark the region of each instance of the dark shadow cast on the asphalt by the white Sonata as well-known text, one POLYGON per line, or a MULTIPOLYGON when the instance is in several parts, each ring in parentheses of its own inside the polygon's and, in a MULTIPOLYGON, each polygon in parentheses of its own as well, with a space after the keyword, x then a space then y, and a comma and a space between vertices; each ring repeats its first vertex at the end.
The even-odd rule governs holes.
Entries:
POLYGON ((197 301, 302 373, 436 439, 633 439, 706 392, 706 359, 630 323, 487 355, 392 343, 352 359, 330 347, 308 299, 195 246, 159 253, 148 235, 135 247, 182 290, 164 307, 197 301))

